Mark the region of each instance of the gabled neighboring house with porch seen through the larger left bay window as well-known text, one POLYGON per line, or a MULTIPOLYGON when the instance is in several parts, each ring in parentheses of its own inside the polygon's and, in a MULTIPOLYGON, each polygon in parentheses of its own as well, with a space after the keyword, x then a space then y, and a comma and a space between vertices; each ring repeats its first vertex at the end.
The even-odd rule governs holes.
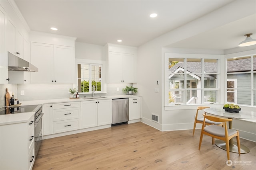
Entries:
POLYGON ((168 59, 169 105, 218 102, 218 59, 168 59))

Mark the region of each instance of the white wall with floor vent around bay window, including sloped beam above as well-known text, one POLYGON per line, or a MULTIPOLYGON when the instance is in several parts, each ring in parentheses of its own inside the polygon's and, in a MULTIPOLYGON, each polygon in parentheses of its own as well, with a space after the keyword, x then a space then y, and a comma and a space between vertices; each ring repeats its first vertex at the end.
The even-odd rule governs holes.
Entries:
MULTIPOLYGON (((187 109, 164 109, 164 53, 162 47, 181 41, 188 37, 203 33, 210 29, 220 27, 235 20, 250 16, 255 12, 254 2, 251 5, 242 1, 234 1, 227 6, 209 13, 202 18, 198 18, 182 27, 170 31, 148 43, 138 47, 138 88, 141 89, 139 95, 142 98, 142 121, 160 130, 191 129, 194 122, 194 114, 197 106, 190 106, 187 109), (160 84, 156 85, 156 80, 160 84), (159 88, 160 93, 155 93, 154 89, 159 88), (151 121, 151 114, 159 114, 160 123, 151 121)), ((175 53, 200 53, 200 54, 224 54, 232 51, 212 51, 212 50, 191 50, 191 49, 171 49, 175 53)), ((223 82, 224 83, 224 82, 223 82)), ((222 85, 222 92, 224 86, 222 85)), ((222 93, 224 98, 224 93, 222 93)), ((216 105, 217 106, 217 105, 216 105)))

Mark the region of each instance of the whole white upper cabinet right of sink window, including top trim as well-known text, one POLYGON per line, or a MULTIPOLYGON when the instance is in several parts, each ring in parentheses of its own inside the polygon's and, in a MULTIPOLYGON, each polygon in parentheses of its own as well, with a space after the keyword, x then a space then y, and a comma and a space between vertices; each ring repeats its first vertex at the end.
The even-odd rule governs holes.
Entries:
POLYGON ((136 82, 136 48, 126 46, 108 45, 107 63, 108 78, 110 83, 136 82))

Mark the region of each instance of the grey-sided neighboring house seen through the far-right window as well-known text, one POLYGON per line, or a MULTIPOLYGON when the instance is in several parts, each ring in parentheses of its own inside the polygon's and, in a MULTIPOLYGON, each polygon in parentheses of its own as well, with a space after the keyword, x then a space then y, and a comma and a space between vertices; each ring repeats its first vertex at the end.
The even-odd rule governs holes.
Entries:
POLYGON ((227 102, 256 106, 256 55, 227 59, 227 102))

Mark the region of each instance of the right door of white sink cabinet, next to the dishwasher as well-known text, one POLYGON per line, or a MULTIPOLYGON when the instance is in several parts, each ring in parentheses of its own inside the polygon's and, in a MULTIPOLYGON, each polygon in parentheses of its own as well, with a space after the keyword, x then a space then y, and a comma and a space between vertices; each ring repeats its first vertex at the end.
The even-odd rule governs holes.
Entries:
POLYGON ((98 126, 112 123, 112 99, 98 100, 98 126))

